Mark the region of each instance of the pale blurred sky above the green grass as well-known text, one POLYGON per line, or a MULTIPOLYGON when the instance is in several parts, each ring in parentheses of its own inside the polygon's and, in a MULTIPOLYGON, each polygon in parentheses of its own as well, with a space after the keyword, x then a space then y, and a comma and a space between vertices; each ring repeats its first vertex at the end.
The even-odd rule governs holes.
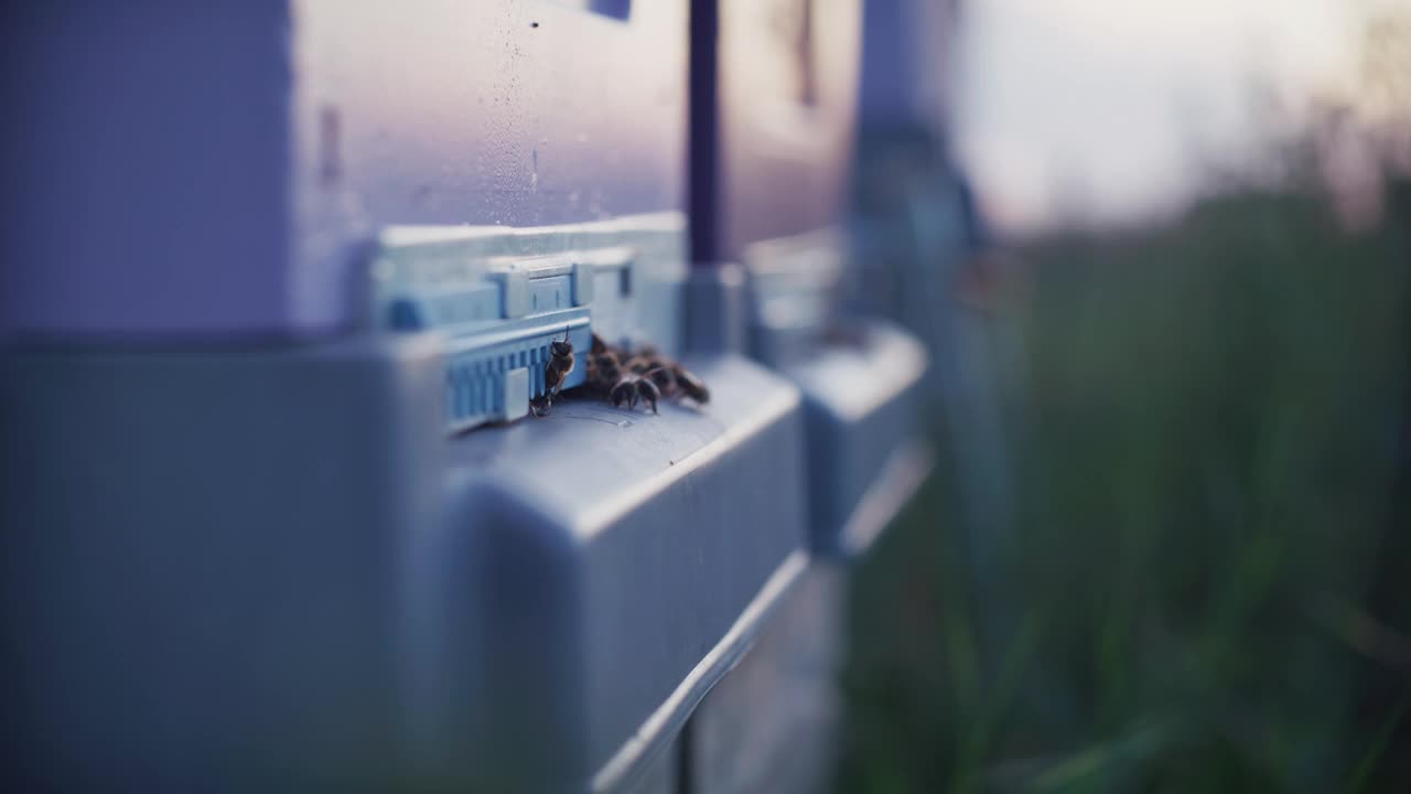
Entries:
POLYGON ((968 0, 955 138, 1006 230, 1181 205, 1249 158, 1256 86, 1355 85, 1367 8, 1411 0, 968 0))

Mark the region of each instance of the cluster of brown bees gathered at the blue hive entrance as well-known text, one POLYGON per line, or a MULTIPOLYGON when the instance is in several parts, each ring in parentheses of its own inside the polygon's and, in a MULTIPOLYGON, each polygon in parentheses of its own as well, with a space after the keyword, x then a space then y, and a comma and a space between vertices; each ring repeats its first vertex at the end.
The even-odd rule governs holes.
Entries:
MULTIPOLYGON (((573 394, 605 400, 615 408, 636 410, 641 404, 643 408, 652 408, 653 414, 658 413, 656 405, 663 398, 687 398, 703 405, 710 401, 710 390, 701 379, 655 348, 642 346, 636 350, 614 348, 594 333, 593 349, 584 359, 588 367, 587 379, 583 386, 570 390, 573 394)), ((543 369, 545 393, 529 403, 533 415, 549 415, 563 381, 576 365, 573 342, 564 332, 563 340, 555 339, 549 343, 549 362, 543 369)))

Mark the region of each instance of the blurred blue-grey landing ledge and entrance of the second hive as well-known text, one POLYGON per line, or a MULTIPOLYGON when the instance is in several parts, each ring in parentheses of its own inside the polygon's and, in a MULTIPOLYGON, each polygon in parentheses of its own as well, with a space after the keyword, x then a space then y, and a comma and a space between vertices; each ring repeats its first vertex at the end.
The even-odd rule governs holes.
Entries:
POLYGON ((842 314, 848 250, 835 229, 745 250, 749 349, 804 394, 813 548, 838 557, 865 551, 931 465, 917 428, 926 350, 842 314))

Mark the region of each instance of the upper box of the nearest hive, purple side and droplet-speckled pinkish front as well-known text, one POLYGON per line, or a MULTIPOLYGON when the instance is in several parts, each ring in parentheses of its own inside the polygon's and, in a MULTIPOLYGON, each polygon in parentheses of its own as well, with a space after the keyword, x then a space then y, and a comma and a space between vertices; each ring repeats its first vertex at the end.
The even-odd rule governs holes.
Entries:
POLYGON ((327 338, 385 226, 680 211, 686 14, 10 3, 0 336, 327 338))

